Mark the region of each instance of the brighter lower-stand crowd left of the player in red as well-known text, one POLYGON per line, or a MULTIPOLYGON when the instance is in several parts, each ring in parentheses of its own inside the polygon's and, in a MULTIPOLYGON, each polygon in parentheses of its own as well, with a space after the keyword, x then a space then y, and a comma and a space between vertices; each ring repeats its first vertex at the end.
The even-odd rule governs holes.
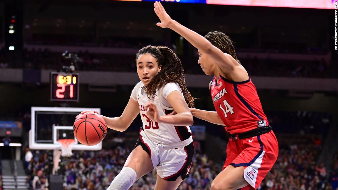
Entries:
MULTIPOLYGON (((62 158, 59 173, 64 174, 65 189, 106 189, 122 169, 131 149, 117 146, 110 150, 73 151, 70 158, 62 158)), ((32 189, 40 190, 48 185, 46 180, 49 166, 47 159, 52 151, 35 151, 28 164, 29 184, 32 189)), ((205 154, 197 152, 194 156, 190 177, 179 189, 210 189, 211 181, 221 171, 221 164, 216 165, 205 154)), ((154 189, 156 171, 145 175, 131 187, 133 190, 154 189)))

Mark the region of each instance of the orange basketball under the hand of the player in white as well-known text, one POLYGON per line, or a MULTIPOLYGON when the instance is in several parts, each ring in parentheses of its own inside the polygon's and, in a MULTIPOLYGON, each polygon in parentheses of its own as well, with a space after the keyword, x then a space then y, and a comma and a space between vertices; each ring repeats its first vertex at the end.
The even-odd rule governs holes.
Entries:
POLYGON ((107 125, 101 115, 87 112, 75 120, 73 131, 81 144, 96 145, 106 136, 107 125))

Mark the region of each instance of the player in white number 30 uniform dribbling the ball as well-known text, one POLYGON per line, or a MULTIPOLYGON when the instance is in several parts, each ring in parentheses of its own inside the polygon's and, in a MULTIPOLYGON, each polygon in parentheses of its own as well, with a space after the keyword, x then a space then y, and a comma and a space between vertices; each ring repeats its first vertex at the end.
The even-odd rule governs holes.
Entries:
MULTIPOLYGON (((122 115, 103 116, 108 128, 121 132, 139 113, 143 123, 134 150, 108 190, 127 190, 155 168, 155 190, 176 190, 189 177, 194 154, 189 128, 193 117, 186 103, 193 107, 194 98, 187 90, 182 64, 171 49, 144 47, 136 54, 136 64, 141 81, 122 115), (166 115, 173 109, 176 115, 166 115)), ((86 112, 90 111, 81 114, 86 112)))

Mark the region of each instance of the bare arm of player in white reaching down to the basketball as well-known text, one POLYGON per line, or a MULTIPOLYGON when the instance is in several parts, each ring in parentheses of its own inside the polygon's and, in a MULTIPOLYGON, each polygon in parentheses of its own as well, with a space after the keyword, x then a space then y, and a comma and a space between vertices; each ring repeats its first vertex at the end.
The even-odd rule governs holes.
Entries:
MULTIPOLYGON (((86 112, 93 112, 93 111, 83 111, 78 116, 86 112)), ((129 102, 127 106, 125 107, 121 116, 119 117, 106 117, 103 115, 101 116, 103 117, 107 125, 107 128, 111 128, 111 129, 114 129, 115 131, 123 132, 128 129, 132 121, 134 121, 135 117, 139 113, 140 113, 139 103, 130 97, 129 102)), ((76 118, 78 116, 76 116, 76 118)))

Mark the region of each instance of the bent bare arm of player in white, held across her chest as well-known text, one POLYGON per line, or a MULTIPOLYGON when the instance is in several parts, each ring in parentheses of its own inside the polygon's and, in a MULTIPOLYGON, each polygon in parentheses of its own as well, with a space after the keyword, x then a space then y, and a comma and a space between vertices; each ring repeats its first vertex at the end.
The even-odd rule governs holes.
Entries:
POLYGON ((189 107, 179 91, 172 91, 168 95, 167 101, 177 112, 176 115, 160 116, 156 105, 148 102, 146 106, 149 107, 149 111, 147 112, 149 118, 159 123, 166 123, 174 126, 191 126, 194 124, 194 119, 189 110, 189 107))

